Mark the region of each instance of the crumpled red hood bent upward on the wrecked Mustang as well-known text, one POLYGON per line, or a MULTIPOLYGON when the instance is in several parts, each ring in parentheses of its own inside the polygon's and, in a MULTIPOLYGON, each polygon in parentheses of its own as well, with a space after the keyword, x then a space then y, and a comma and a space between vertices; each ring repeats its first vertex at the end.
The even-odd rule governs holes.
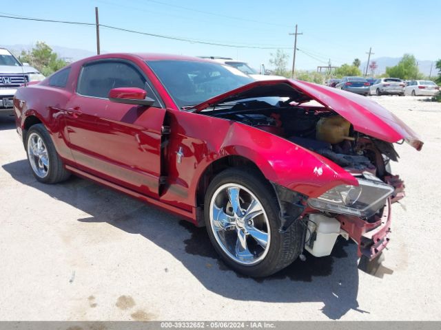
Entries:
POLYGON ((416 150, 420 151, 422 148, 423 142, 420 137, 400 118, 377 102, 348 91, 300 80, 255 81, 215 96, 196 105, 194 109, 198 112, 214 104, 266 96, 287 97, 293 102, 316 100, 351 122, 353 128, 360 133, 391 143, 404 139, 416 150))

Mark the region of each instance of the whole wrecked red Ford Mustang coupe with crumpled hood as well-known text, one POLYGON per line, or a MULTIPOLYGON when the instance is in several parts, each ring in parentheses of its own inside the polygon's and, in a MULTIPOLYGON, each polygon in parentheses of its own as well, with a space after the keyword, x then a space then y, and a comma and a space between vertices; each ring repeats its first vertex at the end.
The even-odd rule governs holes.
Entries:
POLYGON ((205 225, 249 276, 329 255, 339 235, 376 258, 404 195, 393 143, 422 147, 367 98, 185 56, 86 58, 21 87, 14 112, 37 180, 79 175, 205 225))

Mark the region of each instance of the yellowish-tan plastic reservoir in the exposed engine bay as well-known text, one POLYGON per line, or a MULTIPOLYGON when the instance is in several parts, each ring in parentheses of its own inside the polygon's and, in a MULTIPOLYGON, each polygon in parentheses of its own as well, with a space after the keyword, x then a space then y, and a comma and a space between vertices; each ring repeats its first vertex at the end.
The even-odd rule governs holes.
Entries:
POLYGON ((341 115, 322 117, 316 125, 316 138, 330 144, 337 144, 344 140, 354 140, 349 136, 351 123, 341 115))

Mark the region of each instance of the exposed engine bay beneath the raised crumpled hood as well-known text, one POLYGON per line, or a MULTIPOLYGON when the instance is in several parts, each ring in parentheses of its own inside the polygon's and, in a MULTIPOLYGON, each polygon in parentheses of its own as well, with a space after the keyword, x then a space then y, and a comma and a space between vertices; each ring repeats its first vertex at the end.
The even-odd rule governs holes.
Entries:
POLYGON ((369 172, 383 179, 388 174, 389 160, 398 161, 393 144, 353 131, 345 118, 324 107, 288 106, 268 109, 268 105, 260 101, 246 105, 238 103, 229 111, 214 111, 212 115, 283 137, 330 159, 353 175, 369 172), (267 107, 261 107, 265 104, 267 107), (376 151, 382 157, 378 157, 376 151))

